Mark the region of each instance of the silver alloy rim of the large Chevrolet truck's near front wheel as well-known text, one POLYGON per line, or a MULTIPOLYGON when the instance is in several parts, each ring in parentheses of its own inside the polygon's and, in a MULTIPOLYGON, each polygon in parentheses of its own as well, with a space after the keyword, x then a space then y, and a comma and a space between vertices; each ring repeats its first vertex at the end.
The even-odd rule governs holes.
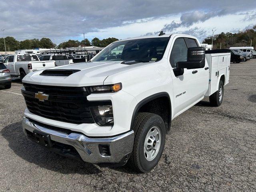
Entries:
POLYGON ((152 161, 156 158, 161 145, 161 132, 156 126, 152 127, 146 136, 144 142, 144 155, 146 160, 152 161))

